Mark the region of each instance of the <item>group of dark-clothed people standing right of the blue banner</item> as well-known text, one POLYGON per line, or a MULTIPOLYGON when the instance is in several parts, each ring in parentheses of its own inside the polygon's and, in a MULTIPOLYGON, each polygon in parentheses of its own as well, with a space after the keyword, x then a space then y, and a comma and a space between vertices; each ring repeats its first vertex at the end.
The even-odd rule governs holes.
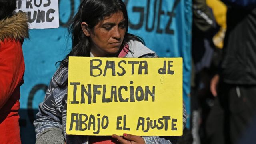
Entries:
POLYGON ((256 116, 256 1, 193 0, 193 144, 244 144, 256 116))

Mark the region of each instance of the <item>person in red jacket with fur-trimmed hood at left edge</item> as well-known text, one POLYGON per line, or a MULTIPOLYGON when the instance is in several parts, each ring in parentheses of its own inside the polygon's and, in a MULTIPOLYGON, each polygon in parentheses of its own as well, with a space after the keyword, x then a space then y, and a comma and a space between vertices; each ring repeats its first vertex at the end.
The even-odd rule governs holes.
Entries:
POLYGON ((15 13, 16 0, 0 0, 0 143, 20 144, 20 86, 25 70, 22 53, 28 18, 15 13))

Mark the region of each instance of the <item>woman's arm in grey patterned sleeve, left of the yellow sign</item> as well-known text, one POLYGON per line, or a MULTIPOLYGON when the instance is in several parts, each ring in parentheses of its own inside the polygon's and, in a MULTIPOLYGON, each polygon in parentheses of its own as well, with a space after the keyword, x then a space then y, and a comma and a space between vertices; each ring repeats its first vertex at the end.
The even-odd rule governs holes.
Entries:
POLYGON ((66 92, 60 90, 51 80, 44 102, 39 105, 34 126, 36 144, 64 144, 62 130, 62 101, 66 92), (58 99, 58 100, 56 100, 58 99))

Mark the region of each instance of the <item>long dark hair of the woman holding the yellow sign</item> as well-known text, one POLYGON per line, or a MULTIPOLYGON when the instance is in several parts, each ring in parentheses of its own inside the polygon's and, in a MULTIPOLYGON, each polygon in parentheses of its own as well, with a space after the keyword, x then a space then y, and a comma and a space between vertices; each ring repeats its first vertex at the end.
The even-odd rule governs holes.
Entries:
MULTIPOLYGON (((126 6, 122 0, 82 0, 78 12, 70 23, 68 32, 72 38, 72 49, 70 53, 60 62, 60 67, 68 67, 69 56, 90 56, 89 37, 85 36, 81 28, 81 23, 86 22, 89 30, 94 30, 98 22, 104 20, 106 16, 110 16, 121 11, 126 20, 126 33, 121 48, 125 48, 125 44, 130 40, 137 40, 144 44, 144 41, 133 34, 128 33, 128 14, 126 6)), ((67 82, 62 84, 62 88, 67 82)))

